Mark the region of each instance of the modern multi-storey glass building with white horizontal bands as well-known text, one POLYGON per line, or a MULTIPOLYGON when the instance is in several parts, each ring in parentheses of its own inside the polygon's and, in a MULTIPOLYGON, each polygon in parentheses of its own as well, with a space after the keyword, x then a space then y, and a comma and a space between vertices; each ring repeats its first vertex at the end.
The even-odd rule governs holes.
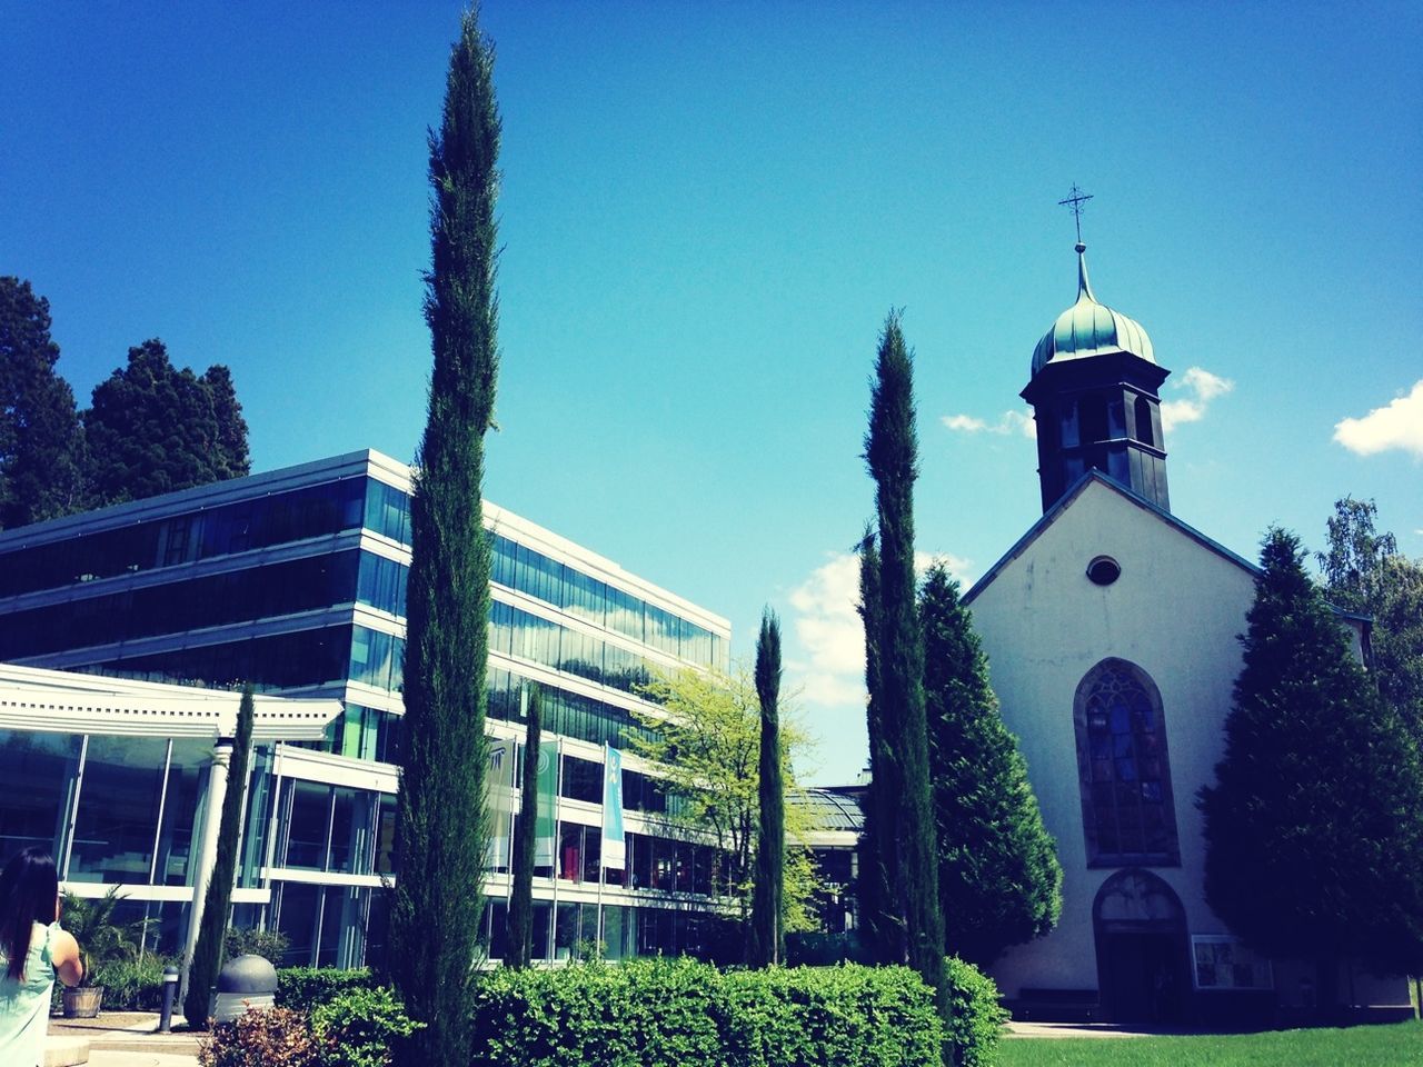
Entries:
MULTIPOLYGON (((351 966, 380 950, 367 932, 383 928, 379 891, 398 876, 408 505, 410 468, 364 451, 0 532, 0 663, 339 701, 320 737, 262 738, 248 784, 238 920, 286 933, 287 963, 351 966)), ((628 740, 647 728, 636 713, 657 714, 638 691, 653 671, 726 666, 727 622, 508 511, 487 504, 485 524, 488 731, 522 737, 538 683, 555 740, 541 955, 588 942, 612 957, 707 950, 721 865, 710 844, 672 834, 628 740), (601 864, 605 745, 623 761, 625 869, 601 864)), ((71 886, 121 885, 129 908, 166 908, 175 947, 192 872, 172 842, 202 811, 211 741, 65 733, 47 714, 0 723, 0 780, 30 782, 24 814, 9 801, 0 812, 0 848, 48 841, 71 886), (75 808, 64 791, 81 780, 110 782, 83 795, 127 800, 75 808), (90 817, 112 825, 98 832, 90 817)), ((485 883, 494 957, 507 862, 491 855, 485 883)))

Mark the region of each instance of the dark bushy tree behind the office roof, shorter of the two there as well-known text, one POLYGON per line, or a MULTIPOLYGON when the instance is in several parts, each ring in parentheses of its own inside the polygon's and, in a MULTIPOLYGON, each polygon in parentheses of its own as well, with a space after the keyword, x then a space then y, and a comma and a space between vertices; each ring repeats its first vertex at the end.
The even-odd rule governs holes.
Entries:
POLYGON ((226 367, 178 370, 158 339, 94 387, 84 413, 95 502, 122 504, 248 472, 248 428, 226 367))

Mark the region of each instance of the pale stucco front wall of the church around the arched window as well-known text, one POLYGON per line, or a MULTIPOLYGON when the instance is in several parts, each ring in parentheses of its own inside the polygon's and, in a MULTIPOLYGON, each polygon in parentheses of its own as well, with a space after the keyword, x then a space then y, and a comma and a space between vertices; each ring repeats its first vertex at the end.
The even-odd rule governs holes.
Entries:
POLYGON ((1180 896, 1191 933, 1227 933, 1204 899, 1195 794, 1214 781, 1222 754, 1241 667, 1237 635, 1254 593, 1254 578, 1238 562, 1101 482, 1089 482, 975 590, 973 623, 1003 718, 1019 737, 1063 866, 1057 929, 1009 950, 992 969, 1005 996, 1019 996, 1023 986, 1097 987, 1091 906, 1113 868, 1087 866, 1073 697, 1109 656, 1141 667, 1161 693, 1181 865, 1148 869, 1180 896), (1121 565, 1110 586, 1086 576, 1099 555, 1121 565))

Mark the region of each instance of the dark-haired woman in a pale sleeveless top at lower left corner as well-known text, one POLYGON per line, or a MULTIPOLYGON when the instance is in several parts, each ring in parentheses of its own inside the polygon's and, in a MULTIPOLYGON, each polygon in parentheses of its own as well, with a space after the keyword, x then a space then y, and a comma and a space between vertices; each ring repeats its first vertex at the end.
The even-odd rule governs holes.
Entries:
POLYGON ((80 946, 60 928, 60 879, 41 848, 27 848, 0 874, 0 1064, 38 1067, 54 976, 84 977, 80 946))

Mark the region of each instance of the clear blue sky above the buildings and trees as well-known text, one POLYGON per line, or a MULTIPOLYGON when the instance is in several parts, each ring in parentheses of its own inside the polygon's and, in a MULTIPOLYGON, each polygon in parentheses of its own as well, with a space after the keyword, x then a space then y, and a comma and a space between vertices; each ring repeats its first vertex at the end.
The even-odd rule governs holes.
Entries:
MULTIPOLYGON (((0 273, 50 299, 81 403, 159 336, 232 367, 256 469, 413 457, 458 11, 7 6, 0 273)), ((1073 182, 1099 299, 1174 371, 1175 514, 1254 556, 1272 522, 1318 546, 1352 492, 1423 555, 1416 3, 487 0, 482 21, 505 129, 488 497, 726 615, 736 654, 774 606, 822 738, 805 777, 864 760, 847 549, 885 313, 916 350, 919 546, 972 579, 1040 514, 1017 391, 1076 294, 1073 182)))

